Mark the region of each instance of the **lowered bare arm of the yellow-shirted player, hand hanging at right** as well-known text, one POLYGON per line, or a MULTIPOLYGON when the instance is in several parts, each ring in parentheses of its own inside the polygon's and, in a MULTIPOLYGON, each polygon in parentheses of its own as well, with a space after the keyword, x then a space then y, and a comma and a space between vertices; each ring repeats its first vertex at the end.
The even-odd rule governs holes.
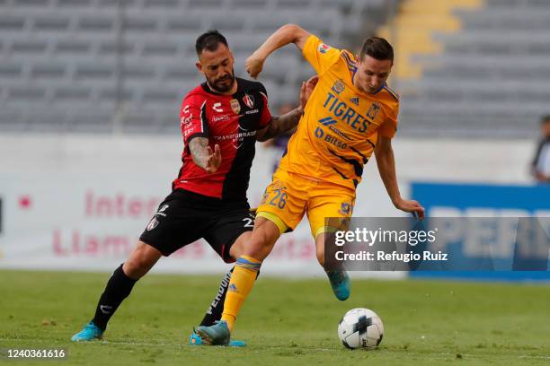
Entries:
POLYGON ((375 149, 375 156, 377 157, 380 178, 384 182, 387 194, 390 196, 395 208, 406 213, 415 214, 420 219, 423 219, 424 207, 417 201, 403 199, 399 192, 395 176, 395 156, 391 138, 380 136, 375 149))

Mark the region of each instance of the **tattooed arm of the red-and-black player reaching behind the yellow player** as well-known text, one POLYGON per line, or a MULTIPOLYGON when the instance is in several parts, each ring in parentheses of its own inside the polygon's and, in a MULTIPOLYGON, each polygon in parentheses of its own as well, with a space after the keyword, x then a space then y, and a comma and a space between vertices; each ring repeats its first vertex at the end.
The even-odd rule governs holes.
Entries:
POLYGON ((295 128, 304 113, 307 100, 309 100, 309 97, 314 91, 315 85, 318 81, 319 77, 315 75, 310 77, 307 82, 302 83, 299 98, 300 107, 289 111, 285 115, 273 117, 268 126, 265 126, 263 129, 258 131, 258 135, 256 135, 257 140, 264 142, 278 135, 286 134, 288 131, 295 128))

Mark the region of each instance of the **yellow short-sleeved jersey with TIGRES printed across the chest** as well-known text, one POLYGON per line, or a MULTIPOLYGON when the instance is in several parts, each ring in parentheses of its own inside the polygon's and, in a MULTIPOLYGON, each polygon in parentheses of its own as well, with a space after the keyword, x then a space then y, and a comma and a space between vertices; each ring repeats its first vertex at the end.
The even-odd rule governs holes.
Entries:
POLYGON ((303 54, 319 82, 279 169, 355 189, 378 135, 395 135, 399 97, 387 85, 375 94, 360 92, 352 82, 356 57, 314 35, 303 54))

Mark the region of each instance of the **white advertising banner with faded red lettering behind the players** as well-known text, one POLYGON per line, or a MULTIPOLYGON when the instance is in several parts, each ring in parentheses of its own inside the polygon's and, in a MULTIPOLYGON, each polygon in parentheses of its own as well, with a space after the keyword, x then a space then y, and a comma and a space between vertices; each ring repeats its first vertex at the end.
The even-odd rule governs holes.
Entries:
MULTIPOLYGON (((442 148, 443 143, 395 142, 404 196, 406 181, 412 179, 525 179, 529 143, 514 143, 519 157, 501 165, 496 159, 490 159, 492 164, 483 161, 483 152, 488 145, 490 151, 508 151, 510 142, 470 143, 466 152, 460 150, 464 142, 448 141, 442 148), (437 157, 434 151, 440 152, 437 157), (479 169, 472 167, 479 160, 479 169)), ((257 146, 248 190, 251 205, 258 205, 271 181, 274 159, 281 154, 257 146)), ((181 152, 180 136, 0 135, 0 268, 112 271, 128 257, 155 208, 170 193, 181 152)), ((354 216, 400 215, 374 159, 363 179, 354 216)), ((200 241, 161 259, 154 270, 204 274, 229 267, 200 241)), ((306 220, 279 239, 262 274, 324 275, 306 220)))

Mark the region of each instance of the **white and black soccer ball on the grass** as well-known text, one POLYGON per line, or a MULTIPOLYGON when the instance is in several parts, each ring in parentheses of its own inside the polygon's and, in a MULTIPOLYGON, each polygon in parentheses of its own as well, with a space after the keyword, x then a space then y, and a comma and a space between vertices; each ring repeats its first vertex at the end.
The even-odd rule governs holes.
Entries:
POLYGON ((372 349, 382 342, 384 325, 372 310, 350 309, 340 320, 338 336, 347 348, 372 349))

